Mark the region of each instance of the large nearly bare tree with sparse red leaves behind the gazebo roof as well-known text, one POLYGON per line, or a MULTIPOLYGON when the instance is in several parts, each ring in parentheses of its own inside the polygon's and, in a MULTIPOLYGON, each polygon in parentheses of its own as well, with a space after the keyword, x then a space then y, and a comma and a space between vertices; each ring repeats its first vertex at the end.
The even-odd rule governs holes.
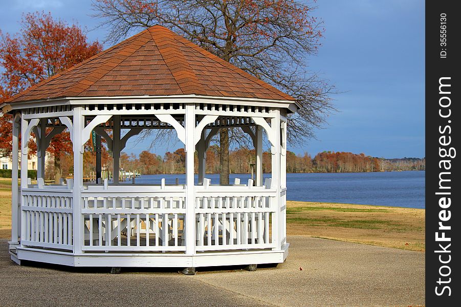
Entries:
MULTIPOLYGON (((301 105, 288 119, 288 141, 302 144, 334 111, 334 86, 309 73, 324 29, 312 4, 294 0, 94 0, 95 16, 116 42, 160 24, 291 95, 301 105)), ((219 134, 220 182, 229 182, 229 131, 219 134)))

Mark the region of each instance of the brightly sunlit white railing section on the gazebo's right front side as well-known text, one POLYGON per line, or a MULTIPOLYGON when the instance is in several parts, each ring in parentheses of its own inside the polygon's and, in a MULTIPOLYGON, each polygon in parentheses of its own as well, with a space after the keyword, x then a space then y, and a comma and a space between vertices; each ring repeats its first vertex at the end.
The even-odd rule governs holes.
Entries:
POLYGON ((196 251, 275 247, 275 189, 210 186, 195 196, 196 251))

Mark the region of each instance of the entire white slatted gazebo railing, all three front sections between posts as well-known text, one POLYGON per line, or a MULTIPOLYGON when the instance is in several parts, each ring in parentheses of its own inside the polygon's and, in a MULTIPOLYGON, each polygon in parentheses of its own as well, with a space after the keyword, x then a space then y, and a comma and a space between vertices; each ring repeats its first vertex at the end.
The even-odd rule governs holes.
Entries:
MULTIPOLYGON (((270 180, 269 188, 205 181, 194 188, 191 204, 195 251, 274 249, 286 242, 285 189, 279 194, 270 180)), ((185 252, 186 218, 184 186, 87 186, 75 208, 73 189, 21 190, 23 246, 73 250, 75 226, 83 252, 185 252)))

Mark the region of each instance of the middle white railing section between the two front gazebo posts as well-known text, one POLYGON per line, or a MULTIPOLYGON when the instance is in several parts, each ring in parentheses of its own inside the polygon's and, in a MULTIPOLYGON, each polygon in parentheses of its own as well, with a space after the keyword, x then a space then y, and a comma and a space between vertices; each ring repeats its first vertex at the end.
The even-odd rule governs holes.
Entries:
POLYGON ((129 188, 82 191, 82 251, 185 251, 185 190, 129 188))

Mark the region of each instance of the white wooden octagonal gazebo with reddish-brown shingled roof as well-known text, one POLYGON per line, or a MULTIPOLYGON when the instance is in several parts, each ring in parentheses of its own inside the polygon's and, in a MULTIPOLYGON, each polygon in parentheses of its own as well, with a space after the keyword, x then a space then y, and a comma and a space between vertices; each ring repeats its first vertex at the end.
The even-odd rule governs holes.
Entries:
POLYGON ((0 107, 14 116, 9 250, 18 264, 180 267, 190 273, 195 267, 286 259, 286 128, 297 104, 185 38, 153 26, 0 107), (206 149, 226 127, 241 127, 253 140, 254 181, 212 185, 206 178, 206 149), (44 184, 44 153, 64 129, 73 142, 74 178, 44 184), (186 184, 119 183, 120 152, 143 129, 175 130, 186 151, 186 184), (84 144, 93 130, 113 152, 113 182, 82 180, 84 144), (265 182, 263 131, 272 153, 265 182), (37 184, 27 178, 32 132, 37 184))

